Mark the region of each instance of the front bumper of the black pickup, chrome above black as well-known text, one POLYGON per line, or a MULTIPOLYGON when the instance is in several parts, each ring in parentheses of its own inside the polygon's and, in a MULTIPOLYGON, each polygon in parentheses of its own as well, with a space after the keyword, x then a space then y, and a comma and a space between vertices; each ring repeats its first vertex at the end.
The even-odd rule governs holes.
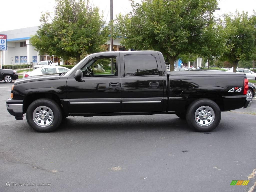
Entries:
POLYGON ((15 119, 23 119, 23 100, 7 99, 6 100, 7 111, 15 117, 15 119))

